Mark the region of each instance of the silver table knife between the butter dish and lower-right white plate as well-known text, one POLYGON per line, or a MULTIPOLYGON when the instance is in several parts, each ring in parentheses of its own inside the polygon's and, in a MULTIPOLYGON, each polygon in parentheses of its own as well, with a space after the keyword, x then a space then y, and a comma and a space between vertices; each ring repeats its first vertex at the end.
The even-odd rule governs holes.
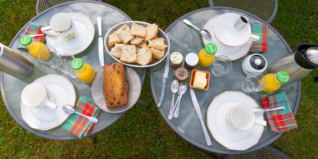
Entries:
POLYGON ((204 137, 205 137, 205 141, 207 142, 208 146, 211 146, 212 143, 211 143, 207 128, 205 127, 205 124, 204 124, 204 121, 203 121, 203 118, 202 118, 202 114, 201 114, 201 110, 200 110, 200 106, 199 106, 197 97, 195 96, 195 93, 194 93, 194 90, 193 90, 192 87, 190 87, 190 94, 191 94, 191 99, 192 99, 192 102, 193 102, 193 106, 194 106, 195 112, 197 112, 197 115, 198 115, 198 117, 200 119, 200 123, 201 123, 201 126, 202 126, 202 130, 203 130, 203 134, 204 134, 204 137))

